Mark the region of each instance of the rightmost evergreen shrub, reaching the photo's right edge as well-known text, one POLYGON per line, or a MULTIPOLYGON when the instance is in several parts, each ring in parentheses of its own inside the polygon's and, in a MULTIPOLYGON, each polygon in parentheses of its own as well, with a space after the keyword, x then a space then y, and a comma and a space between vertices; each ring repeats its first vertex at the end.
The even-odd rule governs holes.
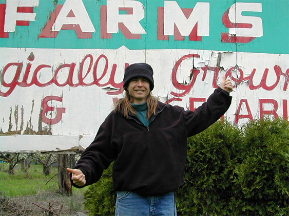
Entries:
POLYGON ((245 152, 235 169, 241 214, 289 215, 288 122, 254 120, 243 131, 245 152))

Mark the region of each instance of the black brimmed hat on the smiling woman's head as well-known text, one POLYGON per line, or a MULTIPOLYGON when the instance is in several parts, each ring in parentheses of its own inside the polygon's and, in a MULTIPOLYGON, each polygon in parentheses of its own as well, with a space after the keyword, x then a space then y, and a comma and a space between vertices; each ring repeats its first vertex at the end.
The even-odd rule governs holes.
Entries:
POLYGON ((124 71, 124 77, 123 77, 123 88, 125 89, 130 80, 136 77, 143 77, 146 78, 149 82, 149 90, 152 91, 153 87, 155 86, 153 84, 153 71, 149 64, 147 63, 134 63, 130 64, 124 71))

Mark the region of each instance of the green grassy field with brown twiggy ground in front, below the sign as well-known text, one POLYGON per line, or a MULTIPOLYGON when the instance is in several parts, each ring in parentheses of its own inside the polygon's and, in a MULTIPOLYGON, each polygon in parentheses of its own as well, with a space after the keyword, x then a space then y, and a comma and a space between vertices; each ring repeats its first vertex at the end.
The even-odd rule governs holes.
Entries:
POLYGON ((58 192, 57 167, 49 176, 42 174, 42 165, 31 165, 27 172, 20 165, 14 175, 7 172, 8 164, 0 164, 0 215, 78 215, 84 209, 85 189, 73 187, 73 195, 58 192), (53 177, 54 176, 54 177, 53 177), (54 214, 48 214, 51 209, 54 214))

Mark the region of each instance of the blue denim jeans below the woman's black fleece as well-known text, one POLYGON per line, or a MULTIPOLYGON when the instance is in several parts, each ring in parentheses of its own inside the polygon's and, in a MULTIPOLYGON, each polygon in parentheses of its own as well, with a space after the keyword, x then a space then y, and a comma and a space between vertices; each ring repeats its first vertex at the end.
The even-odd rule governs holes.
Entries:
POLYGON ((174 192, 163 196, 142 197, 136 192, 119 191, 115 216, 177 215, 174 192))

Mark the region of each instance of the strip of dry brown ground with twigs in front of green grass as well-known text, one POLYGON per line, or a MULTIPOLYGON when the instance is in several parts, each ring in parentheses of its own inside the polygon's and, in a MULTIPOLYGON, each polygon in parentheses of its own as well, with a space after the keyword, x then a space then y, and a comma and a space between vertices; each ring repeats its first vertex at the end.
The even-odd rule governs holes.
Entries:
POLYGON ((35 196, 0 198, 0 215, 78 215, 86 216, 82 196, 65 197, 57 193, 41 193, 35 196))

